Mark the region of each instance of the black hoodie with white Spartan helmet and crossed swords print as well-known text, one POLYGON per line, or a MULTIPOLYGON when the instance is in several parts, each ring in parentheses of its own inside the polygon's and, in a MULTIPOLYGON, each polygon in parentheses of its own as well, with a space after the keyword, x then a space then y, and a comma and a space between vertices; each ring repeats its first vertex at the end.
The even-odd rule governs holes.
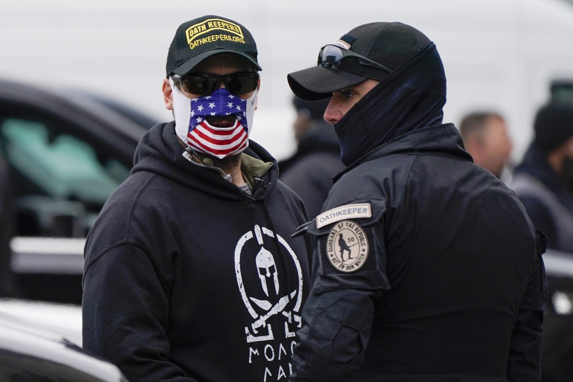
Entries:
POLYGON ((84 349, 131 381, 288 379, 307 294, 300 199, 274 159, 253 196, 182 156, 174 123, 140 142, 85 247, 84 349))

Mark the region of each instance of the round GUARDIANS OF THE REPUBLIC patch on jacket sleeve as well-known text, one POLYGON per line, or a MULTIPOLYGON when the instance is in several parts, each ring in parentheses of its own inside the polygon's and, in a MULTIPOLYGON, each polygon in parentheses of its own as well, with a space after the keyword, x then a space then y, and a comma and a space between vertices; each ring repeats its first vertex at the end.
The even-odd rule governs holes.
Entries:
POLYGON ((368 238, 352 220, 336 223, 326 242, 328 261, 339 271, 359 270, 368 258, 368 238))

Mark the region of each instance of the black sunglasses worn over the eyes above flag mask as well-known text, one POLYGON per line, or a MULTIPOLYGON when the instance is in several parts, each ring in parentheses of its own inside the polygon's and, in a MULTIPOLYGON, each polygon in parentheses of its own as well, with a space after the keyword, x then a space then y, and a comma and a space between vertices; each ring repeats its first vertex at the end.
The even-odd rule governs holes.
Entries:
POLYGON ((225 84, 229 92, 240 95, 252 92, 257 88, 259 74, 257 72, 238 72, 230 74, 189 73, 185 76, 174 74, 174 81, 183 86, 183 90, 191 94, 209 96, 221 85, 225 84))

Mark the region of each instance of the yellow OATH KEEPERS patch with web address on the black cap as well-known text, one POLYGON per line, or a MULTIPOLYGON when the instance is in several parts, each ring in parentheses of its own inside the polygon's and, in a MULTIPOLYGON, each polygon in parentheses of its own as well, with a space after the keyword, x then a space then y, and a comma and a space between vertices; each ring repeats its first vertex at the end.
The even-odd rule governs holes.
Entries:
POLYGON ((222 20, 219 18, 210 18, 198 24, 192 25, 185 31, 187 44, 189 48, 197 48, 199 45, 215 41, 234 41, 245 44, 245 36, 241 27, 236 23, 222 20), (207 37, 201 37, 210 31, 221 30, 223 33, 210 34, 207 37))

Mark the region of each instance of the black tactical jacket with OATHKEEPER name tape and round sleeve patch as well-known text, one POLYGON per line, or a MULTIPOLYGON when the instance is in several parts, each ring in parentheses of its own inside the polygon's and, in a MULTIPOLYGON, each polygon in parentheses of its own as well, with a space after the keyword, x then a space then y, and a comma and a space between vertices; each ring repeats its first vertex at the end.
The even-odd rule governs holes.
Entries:
POLYGON ((291 381, 540 381, 545 236, 454 125, 335 180, 291 381))

